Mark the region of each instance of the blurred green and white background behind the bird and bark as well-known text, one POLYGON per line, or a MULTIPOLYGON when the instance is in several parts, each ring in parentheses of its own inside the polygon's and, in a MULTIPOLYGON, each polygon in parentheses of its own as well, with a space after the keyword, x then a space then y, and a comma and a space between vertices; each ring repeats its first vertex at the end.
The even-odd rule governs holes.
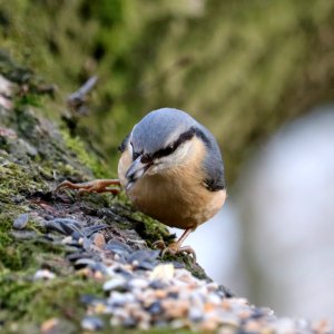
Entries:
POLYGON ((57 85, 40 112, 86 138, 110 177, 147 111, 206 125, 229 197, 188 240, 199 263, 250 303, 334 323, 333 17, 328 0, 1 1, 0 56, 57 85), (94 75, 89 109, 66 110, 94 75))

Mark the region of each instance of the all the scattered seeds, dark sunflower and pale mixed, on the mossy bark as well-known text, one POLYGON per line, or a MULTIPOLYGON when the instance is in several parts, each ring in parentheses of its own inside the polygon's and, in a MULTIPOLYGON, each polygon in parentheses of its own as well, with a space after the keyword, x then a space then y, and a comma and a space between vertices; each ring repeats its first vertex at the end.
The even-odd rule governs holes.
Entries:
MULTIPOLYGON (((27 220, 22 215, 13 222, 17 233, 27 220)), ((43 220, 43 225, 49 239, 71 249, 67 258, 73 267, 105 291, 102 298, 81 296, 87 307, 82 330, 99 331, 109 322, 140 330, 171 327, 222 334, 330 333, 326 322, 277 318, 268 308, 252 306, 225 287, 194 277, 178 262, 161 262, 159 250, 137 242, 137 247, 130 247, 117 238, 107 240, 102 233, 108 229, 106 224, 82 227, 76 219, 56 218, 43 220)), ((53 277, 46 269, 35 275, 35 279, 53 277)))

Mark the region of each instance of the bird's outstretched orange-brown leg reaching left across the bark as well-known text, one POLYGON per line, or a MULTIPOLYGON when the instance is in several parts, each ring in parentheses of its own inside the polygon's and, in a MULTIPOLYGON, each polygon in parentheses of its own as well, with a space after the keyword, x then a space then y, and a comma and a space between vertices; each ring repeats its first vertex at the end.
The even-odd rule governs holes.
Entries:
POLYGON ((95 179, 88 183, 72 184, 69 180, 65 180, 56 188, 56 193, 62 189, 77 189, 78 194, 84 193, 111 193, 117 195, 120 189, 109 188, 110 186, 120 186, 119 179, 95 179))

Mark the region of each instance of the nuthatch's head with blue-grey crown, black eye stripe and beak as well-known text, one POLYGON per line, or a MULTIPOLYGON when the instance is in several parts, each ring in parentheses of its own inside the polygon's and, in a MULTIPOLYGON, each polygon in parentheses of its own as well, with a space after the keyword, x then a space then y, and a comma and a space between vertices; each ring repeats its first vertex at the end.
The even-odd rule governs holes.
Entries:
POLYGON ((177 109, 163 108, 145 116, 127 139, 132 161, 125 175, 126 189, 145 175, 164 173, 184 164, 196 150, 194 139, 198 127, 194 118, 177 109))

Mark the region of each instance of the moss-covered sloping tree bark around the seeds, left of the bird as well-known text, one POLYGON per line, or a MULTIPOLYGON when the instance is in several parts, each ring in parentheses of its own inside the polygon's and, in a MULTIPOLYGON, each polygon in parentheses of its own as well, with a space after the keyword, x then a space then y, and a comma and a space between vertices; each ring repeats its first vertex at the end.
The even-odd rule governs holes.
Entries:
MULTIPOLYGON (((18 70, 8 58, 2 58, 1 68, 6 68, 2 76, 8 79, 13 79, 18 70)), ((89 217, 97 222, 104 217, 110 224, 109 237, 115 233, 127 243, 127 235, 132 238, 135 233, 147 246, 157 239, 169 242, 174 236, 164 225, 134 210, 124 195, 76 198, 68 194, 70 205, 55 195, 56 185, 65 178, 82 181, 115 174, 108 173, 66 127, 59 129, 38 116, 49 105, 36 85, 33 76, 24 84, 18 77, 7 96, 11 107, 0 104, 0 328, 36 333, 42 322, 55 317, 63 321, 62 333, 77 333, 85 314, 80 296, 102 295, 101 284, 75 271, 62 245, 49 242, 41 224, 43 217, 76 214, 82 220, 89 217), (38 101, 38 107, 31 101, 38 101), (28 225, 24 232, 14 230, 13 222, 23 213, 29 214, 28 225), (51 269, 57 277, 35 281, 35 273, 41 268, 51 269)), ((166 259, 183 262, 195 275, 206 277, 187 256, 166 259)))

